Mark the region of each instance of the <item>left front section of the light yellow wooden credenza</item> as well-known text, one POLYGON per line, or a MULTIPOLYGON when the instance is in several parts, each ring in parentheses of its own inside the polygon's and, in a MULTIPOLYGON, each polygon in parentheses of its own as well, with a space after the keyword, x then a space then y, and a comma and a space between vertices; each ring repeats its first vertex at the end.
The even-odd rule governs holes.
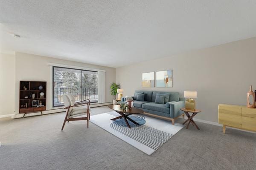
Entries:
POLYGON ((218 121, 219 124, 241 128, 242 107, 232 105, 219 105, 218 121))

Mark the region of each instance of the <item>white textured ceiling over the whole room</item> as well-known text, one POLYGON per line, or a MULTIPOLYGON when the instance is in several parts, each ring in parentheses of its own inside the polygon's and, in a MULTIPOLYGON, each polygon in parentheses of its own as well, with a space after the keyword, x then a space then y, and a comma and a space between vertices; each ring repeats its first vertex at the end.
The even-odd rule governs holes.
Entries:
POLYGON ((255 37, 255 17, 256 0, 0 0, 0 50, 119 67, 255 37))

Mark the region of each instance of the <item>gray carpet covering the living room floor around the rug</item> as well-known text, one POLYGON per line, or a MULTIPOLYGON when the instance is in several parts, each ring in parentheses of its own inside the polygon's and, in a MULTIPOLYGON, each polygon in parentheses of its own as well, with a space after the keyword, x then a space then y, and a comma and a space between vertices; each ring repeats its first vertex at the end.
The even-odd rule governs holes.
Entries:
MULTIPOLYGON (((92 114, 111 111, 93 108, 92 114)), ((1 170, 255 170, 256 134, 198 122, 151 156, 86 121, 61 125, 64 113, 0 119, 1 170)), ((183 122, 179 119, 178 122, 183 122)))

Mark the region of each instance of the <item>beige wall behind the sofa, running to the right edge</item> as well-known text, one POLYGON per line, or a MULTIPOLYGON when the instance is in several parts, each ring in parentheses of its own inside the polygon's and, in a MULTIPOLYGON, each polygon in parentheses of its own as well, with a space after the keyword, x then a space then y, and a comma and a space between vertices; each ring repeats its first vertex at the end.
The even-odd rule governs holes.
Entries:
POLYGON ((249 85, 256 89, 256 37, 116 68, 123 95, 135 90, 197 91, 196 118, 218 122, 218 104, 246 105, 249 85), (142 88, 142 73, 173 70, 173 88, 142 88))

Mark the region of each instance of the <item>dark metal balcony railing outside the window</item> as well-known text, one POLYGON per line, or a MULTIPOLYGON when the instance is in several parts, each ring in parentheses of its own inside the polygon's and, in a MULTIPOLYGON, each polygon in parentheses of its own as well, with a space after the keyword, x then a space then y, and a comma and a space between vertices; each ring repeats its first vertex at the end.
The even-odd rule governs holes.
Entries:
POLYGON ((54 88, 53 94, 54 107, 64 105, 64 94, 72 94, 76 102, 85 99, 90 99, 91 102, 98 102, 98 88, 54 88))

